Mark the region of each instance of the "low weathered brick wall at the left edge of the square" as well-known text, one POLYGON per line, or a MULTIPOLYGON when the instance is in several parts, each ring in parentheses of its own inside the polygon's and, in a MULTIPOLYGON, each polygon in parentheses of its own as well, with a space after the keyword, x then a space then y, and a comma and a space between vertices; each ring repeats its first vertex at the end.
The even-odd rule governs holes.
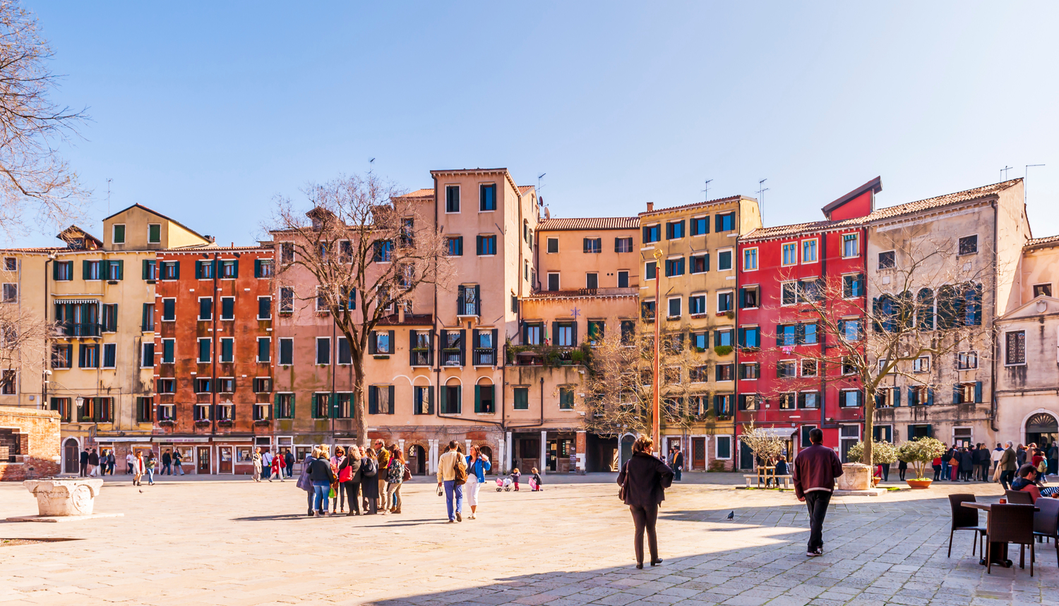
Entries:
POLYGON ((21 481, 59 473, 59 414, 0 406, 0 429, 18 433, 15 462, 0 461, 0 480, 21 481))

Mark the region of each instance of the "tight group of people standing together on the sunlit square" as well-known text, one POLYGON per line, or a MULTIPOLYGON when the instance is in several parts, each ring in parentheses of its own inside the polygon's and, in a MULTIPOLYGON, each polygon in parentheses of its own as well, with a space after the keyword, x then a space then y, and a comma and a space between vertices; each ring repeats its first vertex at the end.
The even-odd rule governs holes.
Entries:
POLYGON ((361 515, 361 506, 364 515, 399 514, 400 489, 409 479, 405 453, 396 444, 387 447, 376 440, 363 451, 356 445, 335 446, 334 455, 326 444, 312 448, 303 461, 298 488, 308 493, 309 517, 361 515))

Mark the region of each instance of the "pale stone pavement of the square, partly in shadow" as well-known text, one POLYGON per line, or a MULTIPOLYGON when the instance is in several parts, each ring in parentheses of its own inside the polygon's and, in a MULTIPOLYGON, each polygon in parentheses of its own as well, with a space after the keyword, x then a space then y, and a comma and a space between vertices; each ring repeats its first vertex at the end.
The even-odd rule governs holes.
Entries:
MULTIPOLYGON (((1018 564, 986 575, 970 533, 946 557, 946 496, 994 500, 998 485, 836 499, 826 553, 807 558, 805 507, 793 495, 685 474, 660 515, 665 563, 636 570, 612 478, 549 478, 540 493, 487 485, 479 518, 455 525, 444 524, 444 500, 424 478, 405 486, 403 514, 329 518, 306 517, 292 481, 108 482, 96 509, 125 517, 0 524, 0 538, 53 539, 0 541, 0 606, 1059 606, 1052 544, 1040 545, 1033 579, 1018 564)), ((21 485, 0 484, 0 516, 34 511, 21 485)))

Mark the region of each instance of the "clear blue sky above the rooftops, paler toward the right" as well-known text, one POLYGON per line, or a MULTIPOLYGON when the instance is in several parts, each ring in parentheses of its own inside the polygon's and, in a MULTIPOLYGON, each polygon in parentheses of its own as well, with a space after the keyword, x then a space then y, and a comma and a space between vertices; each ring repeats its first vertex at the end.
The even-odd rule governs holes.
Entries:
MULTIPOLYGON (((110 208, 249 243, 271 199, 375 169, 506 166, 553 215, 755 196, 769 225, 882 176, 880 205, 1026 164, 1059 234, 1056 3, 29 2, 89 106, 110 208)), ((102 235, 102 234, 98 234, 102 235)), ((53 233, 21 244, 50 243, 53 233)))

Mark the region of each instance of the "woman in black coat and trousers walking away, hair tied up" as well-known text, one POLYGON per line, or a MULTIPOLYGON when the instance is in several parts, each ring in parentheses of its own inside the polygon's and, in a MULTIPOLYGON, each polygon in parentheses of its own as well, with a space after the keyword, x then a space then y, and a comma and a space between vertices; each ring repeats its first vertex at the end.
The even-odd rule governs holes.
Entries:
POLYGON ((658 457, 651 455, 654 440, 642 436, 632 445, 632 458, 625 462, 617 474, 622 486, 622 500, 632 512, 636 527, 633 548, 636 553, 636 568, 644 567, 644 531, 647 531, 647 546, 651 552, 651 566, 662 564, 659 558, 659 541, 654 524, 659 517, 659 503, 665 500, 665 489, 672 484, 672 470, 658 457))

